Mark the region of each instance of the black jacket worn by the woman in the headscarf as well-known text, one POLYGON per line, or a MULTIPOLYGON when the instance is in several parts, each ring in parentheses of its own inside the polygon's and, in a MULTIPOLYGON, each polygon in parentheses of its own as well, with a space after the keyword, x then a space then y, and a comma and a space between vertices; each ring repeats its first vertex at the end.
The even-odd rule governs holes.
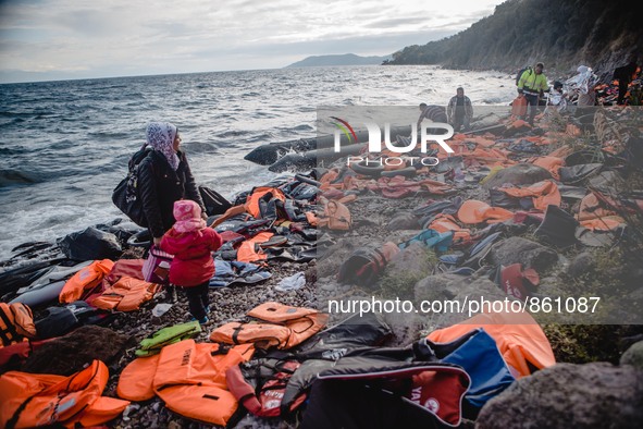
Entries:
POLYGON ((163 154, 151 150, 139 166, 138 188, 143 210, 153 237, 161 237, 174 224, 174 201, 191 199, 201 206, 203 200, 189 170, 185 154, 178 151, 178 168, 172 170, 163 154))

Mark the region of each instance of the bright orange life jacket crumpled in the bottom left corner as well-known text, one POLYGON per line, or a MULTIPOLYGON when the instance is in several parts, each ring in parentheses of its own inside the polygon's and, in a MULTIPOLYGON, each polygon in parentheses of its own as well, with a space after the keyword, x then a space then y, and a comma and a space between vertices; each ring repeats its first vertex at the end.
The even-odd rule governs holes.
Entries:
POLYGON ((101 397, 109 371, 100 360, 70 377, 10 371, 0 376, 0 427, 95 426, 120 415, 128 401, 101 397))

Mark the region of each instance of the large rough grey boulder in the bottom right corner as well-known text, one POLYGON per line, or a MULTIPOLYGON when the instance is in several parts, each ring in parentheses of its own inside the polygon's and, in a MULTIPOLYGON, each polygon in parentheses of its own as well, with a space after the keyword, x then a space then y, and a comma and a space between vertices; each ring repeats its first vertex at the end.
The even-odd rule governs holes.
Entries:
POLYGON ((638 428, 641 421, 643 372, 608 363, 558 364, 487 402, 475 428, 638 428))

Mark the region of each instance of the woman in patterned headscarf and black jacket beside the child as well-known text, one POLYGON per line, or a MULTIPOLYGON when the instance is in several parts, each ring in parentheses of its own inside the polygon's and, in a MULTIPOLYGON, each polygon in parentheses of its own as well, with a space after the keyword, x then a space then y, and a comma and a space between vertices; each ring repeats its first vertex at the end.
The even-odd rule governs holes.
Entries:
POLYGON ((152 148, 139 164, 138 188, 143 210, 154 245, 174 224, 174 201, 190 199, 206 209, 187 158, 181 151, 181 136, 169 122, 151 122, 147 126, 147 144, 152 148))

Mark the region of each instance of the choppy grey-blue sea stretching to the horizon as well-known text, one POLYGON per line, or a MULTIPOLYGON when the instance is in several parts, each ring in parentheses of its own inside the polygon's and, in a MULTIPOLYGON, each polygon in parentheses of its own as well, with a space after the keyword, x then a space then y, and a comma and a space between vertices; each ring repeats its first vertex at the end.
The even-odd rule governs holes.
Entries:
POLYGON ((319 106, 506 106, 514 77, 429 65, 326 66, 0 85, 0 260, 122 213, 111 201, 150 121, 174 123, 198 184, 226 198, 274 179, 252 148, 314 137, 319 106))

